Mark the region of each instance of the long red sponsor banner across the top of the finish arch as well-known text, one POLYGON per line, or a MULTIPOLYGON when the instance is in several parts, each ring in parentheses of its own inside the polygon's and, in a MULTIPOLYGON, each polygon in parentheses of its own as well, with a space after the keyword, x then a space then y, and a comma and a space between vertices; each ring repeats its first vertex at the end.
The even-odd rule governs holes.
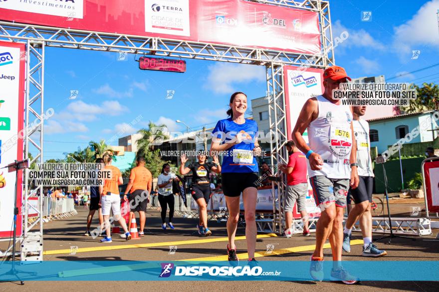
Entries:
POLYGON ((318 13, 243 0, 0 1, 26 24, 316 54, 318 13))

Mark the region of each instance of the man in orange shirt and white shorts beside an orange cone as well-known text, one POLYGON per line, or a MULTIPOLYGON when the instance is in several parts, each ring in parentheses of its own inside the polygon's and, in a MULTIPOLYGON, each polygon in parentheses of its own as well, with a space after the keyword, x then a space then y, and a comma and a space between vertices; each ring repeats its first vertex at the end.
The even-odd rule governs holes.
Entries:
MULTIPOLYGON (((104 185, 99 187, 99 194, 101 195, 102 215, 104 215, 105 231, 107 235, 101 239, 101 242, 112 242, 110 230, 110 209, 113 211, 114 221, 119 221, 125 231, 126 240, 131 239, 131 234, 128 231, 125 219, 120 214, 120 194, 119 185, 123 184, 120 170, 111 165, 112 157, 107 152, 102 157, 105 163, 105 170, 111 171, 111 179, 106 179, 104 185)), ((101 228, 102 230, 102 228, 101 228)))

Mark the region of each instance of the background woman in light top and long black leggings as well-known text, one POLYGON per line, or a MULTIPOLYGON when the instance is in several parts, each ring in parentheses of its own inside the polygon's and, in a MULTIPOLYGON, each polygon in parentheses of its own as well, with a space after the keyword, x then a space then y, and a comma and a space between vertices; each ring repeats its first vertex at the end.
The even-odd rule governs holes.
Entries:
POLYGON ((162 166, 162 173, 159 175, 157 179, 157 186, 159 187, 159 203, 162 208, 161 216, 162 216, 162 229, 166 230, 166 211, 169 206, 169 223, 168 227, 171 229, 175 229, 172 224, 172 219, 174 218, 174 204, 175 198, 172 193, 172 182, 179 181, 175 174, 170 173, 171 167, 169 164, 165 163, 162 166))

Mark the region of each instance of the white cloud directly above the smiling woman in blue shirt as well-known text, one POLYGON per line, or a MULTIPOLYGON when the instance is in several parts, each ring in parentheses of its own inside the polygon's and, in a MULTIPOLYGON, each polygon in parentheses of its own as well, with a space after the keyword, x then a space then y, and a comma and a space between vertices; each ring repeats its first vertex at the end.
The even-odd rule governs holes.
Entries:
POLYGON ((238 84, 264 81, 265 71, 261 66, 218 63, 209 66, 206 89, 218 94, 237 91, 238 84))

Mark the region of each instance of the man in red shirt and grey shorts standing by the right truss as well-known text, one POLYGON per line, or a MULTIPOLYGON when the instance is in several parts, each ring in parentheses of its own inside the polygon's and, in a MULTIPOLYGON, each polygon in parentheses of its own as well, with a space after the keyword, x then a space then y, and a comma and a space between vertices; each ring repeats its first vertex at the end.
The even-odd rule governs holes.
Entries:
POLYGON ((293 222, 293 207, 297 201, 297 211, 303 221, 303 235, 309 236, 308 213, 306 212, 305 199, 308 193, 308 182, 306 180, 307 165, 305 155, 296 147, 293 141, 286 143, 288 151, 288 164, 282 165, 280 170, 286 174, 288 190, 284 197, 285 211, 285 236, 291 237, 291 225, 293 222))

